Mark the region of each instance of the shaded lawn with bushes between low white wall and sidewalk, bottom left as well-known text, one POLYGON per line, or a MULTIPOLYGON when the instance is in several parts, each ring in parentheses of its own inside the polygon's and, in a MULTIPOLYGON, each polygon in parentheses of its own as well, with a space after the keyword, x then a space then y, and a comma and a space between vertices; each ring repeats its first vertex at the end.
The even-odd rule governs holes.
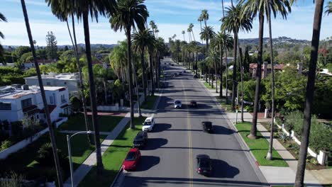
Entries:
MULTIPOLYGON (((106 136, 101 136, 101 141, 104 140, 106 136)), ((55 137, 57 141, 57 149, 68 156, 67 150, 67 140, 66 135, 57 133, 55 137)), ((11 154, 4 160, 0 160, 0 174, 9 173, 9 171, 14 171, 17 174, 22 174, 27 180, 38 179, 41 176, 45 176, 49 181, 55 181, 56 173, 54 167, 50 166, 40 166, 38 162, 35 161, 37 157, 37 152, 42 145, 46 142, 50 142, 50 137, 48 133, 41 136, 38 140, 33 142, 31 145, 21 149, 20 151, 11 154)), ((72 155, 73 155, 73 166, 76 169, 79 164, 82 164, 85 159, 94 151, 94 146, 87 143, 87 135, 76 135, 72 138, 72 155)), ((66 180, 69 176, 69 168, 66 167, 62 174, 63 179, 66 180)))

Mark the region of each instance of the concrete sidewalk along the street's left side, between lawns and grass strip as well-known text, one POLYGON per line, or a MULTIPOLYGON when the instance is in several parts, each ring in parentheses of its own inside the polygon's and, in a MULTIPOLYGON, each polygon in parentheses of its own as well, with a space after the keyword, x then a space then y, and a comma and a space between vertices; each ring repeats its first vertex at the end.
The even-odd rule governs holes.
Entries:
MULTIPOLYGON (((140 96, 140 103, 143 101, 143 96, 140 96)), ((138 103, 135 104, 134 106, 135 108, 135 116, 138 116, 138 103)), ((142 111, 142 115, 143 116, 149 116, 149 113, 143 113, 142 111)), ((118 137, 118 135, 121 133, 121 131, 123 130, 123 128, 126 127, 126 125, 128 124, 128 122, 131 119, 131 113, 127 113, 124 118, 118 123, 118 125, 116 125, 116 127, 114 128, 114 130, 112 132, 109 132, 109 135, 105 138, 105 140, 103 142, 101 142, 101 155, 104 154, 104 152, 106 151, 106 149, 109 148, 109 146, 111 146, 111 144, 114 142, 114 140, 116 139, 116 137, 118 137)), ((74 171, 74 186, 78 186, 79 183, 84 179, 84 176, 86 176, 89 171, 92 169, 92 167, 96 164, 96 151, 92 152, 92 154, 89 155, 89 157, 87 157, 87 159, 74 171)), ((67 181, 65 181, 64 183, 65 187, 70 187, 72 186, 72 182, 71 182, 71 177, 69 179, 67 179, 67 181)))

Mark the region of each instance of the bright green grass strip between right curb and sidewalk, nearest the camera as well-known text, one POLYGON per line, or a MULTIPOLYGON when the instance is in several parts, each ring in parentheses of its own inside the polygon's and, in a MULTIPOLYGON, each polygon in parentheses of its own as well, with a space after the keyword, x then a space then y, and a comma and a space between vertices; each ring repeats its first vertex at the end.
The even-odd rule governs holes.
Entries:
POLYGON ((262 137, 260 132, 257 132, 258 138, 255 140, 251 140, 247 137, 250 133, 250 123, 238 123, 236 125, 236 128, 238 129, 238 132, 240 132, 240 135, 245 140, 245 143, 250 148, 250 151, 253 152, 253 155, 258 160, 258 163, 261 166, 282 166, 287 167, 287 162, 284 162, 284 159, 278 154, 278 152, 273 149, 272 160, 265 159, 267 151, 269 149, 269 142, 265 139, 265 137, 262 137))

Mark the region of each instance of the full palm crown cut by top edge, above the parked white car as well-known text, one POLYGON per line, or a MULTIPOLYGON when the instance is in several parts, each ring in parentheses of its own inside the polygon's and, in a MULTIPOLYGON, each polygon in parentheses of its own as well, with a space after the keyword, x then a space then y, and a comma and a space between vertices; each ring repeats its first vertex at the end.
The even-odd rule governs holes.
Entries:
POLYGON ((144 0, 120 0, 114 16, 109 18, 111 28, 115 31, 126 30, 126 27, 137 26, 139 30, 145 30, 146 19, 149 16, 148 9, 143 4, 144 0))

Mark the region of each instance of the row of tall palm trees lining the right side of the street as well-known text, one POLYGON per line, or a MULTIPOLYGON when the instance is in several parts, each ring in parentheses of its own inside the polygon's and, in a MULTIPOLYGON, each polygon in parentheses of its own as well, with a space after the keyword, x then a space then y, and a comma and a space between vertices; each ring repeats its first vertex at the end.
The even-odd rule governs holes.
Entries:
MULTIPOLYGON (((315 1, 314 1, 315 2, 315 1)), ((255 101, 254 101, 254 112, 253 112, 253 122, 252 128, 250 130, 250 135, 248 137, 255 139, 257 137, 257 117, 258 117, 258 105, 260 101, 260 81, 261 81, 261 69, 262 69, 262 38, 263 38, 263 30, 264 30, 264 21, 267 19, 268 27, 269 27, 269 38, 270 38, 270 58, 271 58, 271 66, 272 66, 272 127, 273 127, 273 118, 275 116, 275 80, 274 80, 274 62, 273 62, 273 43, 272 43, 272 24, 271 24, 271 16, 276 18, 277 13, 279 13, 282 18, 286 19, 288 13, 291 13, 291 6, 294 3, 293 0, 241 0, 238 1, 238 4, 234 5, 233 1, 231 1, 231 7, 226 8, 226 11, 223 9, 223 18, 221 18, 221 33, 215 35, 213 28, 206 25, 206 20, 209 19, 209 14, 206 10, 202 11, 201 15, 198 18, 198 21, 204 21, 205 27, 201 28, 201 39, 206 41, 206 62, 212 62, 210 64, 214 64, 214 68, 216 71, 218 67, 216 66, 216 51, 214 48, 209 50, 209 41, 211 40, 211 45, 216 46, 216 43, 219 43, 219 55, 222 59, 223 54, 225 53, 227 57, 227 51, 230 48, 233 48, 233 86, 232 86, 232 110, 235 109, 235 96, 236 96, 236 86, 237 86, 237 57, 238 50, 241 50, 238 45, 238 33, 240 31, 249 32, 253 26, 253 19, 258 17, 259 20, 259 43, 258 43, 258 69, 256 74, 256 88, 255 88, 255 101), (225 13, 226 12, 226 15, 225 13), (271 15, 272 14, 272 15, 271 15), (226 42, 226 35, 228 33, 233 33, 233 46, 231 46, 228 42, 226 42), (214 38, 218 38, 215 42, 214 38), (225 45, 228 43, 227 45, 225 45), (226 47, 227 46, 227 47, 226 47), (223 50, 222 50, 223 48, 223 50)), ((326 14, 331 13, 331 1, 326 6, 326 14)), ((222 1, 223 7, 223 1, 222 1)), ((313 101, 314 94, 314 81, 315 81, 315 72, 316 72, 316 62, 317 62, 317 52, 319 47, 319 33, 321 26, 321 17, 323 13, 323 0, 316 1, 316 9, 314 15, 314 29, 313 29, 313 38, 311 43, 311 61, 309 65, 309 76, 308 76, 308 84, 306 90, 306 107, 304 109, 304 131, 302 133, 301 140, 301 151, 299 157, 299 164, 297 169, 297 176, 295 181, 295 186, 303 186, 304 185, 304 169, 305 169, 305 160, 307 154, 307 147, 309 142, 309 130, 310 130, 310 120, 311 120, 311 106, 313 101)), ((241 54, 241 52, 240 52, 241 54)), ((226 58, 227 59, 227 58, 226 58)), ((241 82, 242 82, 242 90, 243 90, 243 62, 241 62, 242 57, 239 57, 240 62, 240 74, 241 74, 241 82)), ((222 67, 222 60, 221 60, 222 67)), ((228 68, 226 68, 228 69, 228 68)), ((220 71, 222 77, 222 68, 220 71)), ((215 72, 216 74, 216 72, 215 72)), ((227 74, 227 73, 226 73, 227 74)), ((207 77, 206 77, 207 79, 207 77)), ((221 80, 222 81, 222 80, 221 80)), ((213 84, 212 84, 213 85, 213 84)), ((222 84, 221 84, 222 85, 222 84)), ((227 84, 226 84, 227 85, 227 84)), ((218 89, 216 89, 218 91, 218 89)), ((221 96, 222 96, 222 91, 221 96)), ((227 94, 226 94, 227 95, 227 94)), ((243 93, 242 93, 243 96, 243 93)), ((227 97, 226 97, 227 98, 227 97)), ((226 99, 227 100, 227 99, 226 99)), ((243 99, 242 99, 243 102, 243 99)), ((243 106, 243 104, 242 104, 243 106)), ((242 108, 243 110, 243 108, 242 108)), ((243 120, 243 115, 242 115, 243 120)), ((270 140, 273 140, 273 128, 271 128, 271 137, 270 140)), ((272 159, 272 141, 270 141, 269 151, 267 152, 267 159, 272 159)))

